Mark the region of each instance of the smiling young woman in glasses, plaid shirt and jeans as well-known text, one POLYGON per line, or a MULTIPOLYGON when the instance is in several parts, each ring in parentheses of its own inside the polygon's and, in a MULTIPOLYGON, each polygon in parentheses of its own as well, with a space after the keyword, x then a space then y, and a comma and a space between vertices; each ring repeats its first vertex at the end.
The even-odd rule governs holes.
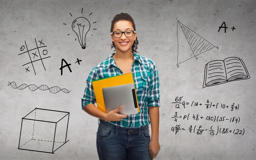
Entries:
POLYGON ((111 22, 111 49, 105 61, 96 65, 87 78, 81 99, 82 109, 99 118, 96 137, 99 160, 153 160, 159 144, 159 77, 155 63, 137 54, 137 32, 129 14, 117 14, 111 22), (92 81, 132 73, 140 112, 122 115, 122 106, 103 113, 96 103, 92 81), (151 136, 148 125, 151 124, 151 136))

